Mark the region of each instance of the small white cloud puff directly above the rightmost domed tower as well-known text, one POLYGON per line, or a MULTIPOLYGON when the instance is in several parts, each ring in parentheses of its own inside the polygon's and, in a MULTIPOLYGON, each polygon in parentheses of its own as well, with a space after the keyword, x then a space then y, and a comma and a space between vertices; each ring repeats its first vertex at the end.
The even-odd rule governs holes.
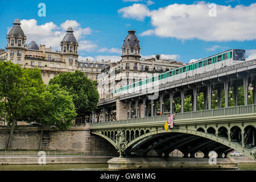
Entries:
POLYGON ((119 9, 118 13, 122 14, 124 18, 144 20, 146 16, 150 15, 150 10, 146 5, 134 3, 132 6, 119 9))

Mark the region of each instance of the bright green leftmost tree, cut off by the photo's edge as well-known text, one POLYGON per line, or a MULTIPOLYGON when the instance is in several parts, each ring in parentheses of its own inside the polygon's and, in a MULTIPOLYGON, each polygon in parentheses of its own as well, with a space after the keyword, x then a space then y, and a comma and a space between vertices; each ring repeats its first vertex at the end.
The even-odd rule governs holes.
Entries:
POLYGON ((23 69, 10 61, 0 61, 0 113, 11 126, 7 150, 11 149, 16 122, 33 112, 42 92, 44 84, 39 69, 23 69))

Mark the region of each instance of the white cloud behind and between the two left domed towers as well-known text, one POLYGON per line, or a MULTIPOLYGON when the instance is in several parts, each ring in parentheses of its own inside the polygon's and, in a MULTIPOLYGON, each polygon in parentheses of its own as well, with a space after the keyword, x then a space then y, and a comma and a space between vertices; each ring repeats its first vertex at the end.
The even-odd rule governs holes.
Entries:
MULTIPOLYGON (((59 26, 53 22, 48 22, 39 25, 35 19, 23 19, 20 21, 21 27, 24 33, 27 35, 27 44, 34 40, 38 44, 44 44, 46 47, 53 47, 55 49, 60 49, 60 42, 63 40, 66 30, 68 27, 72 27, 74 35, 77 40, 81 40, 85 35, 91 34, 92 30, 88 28, 82 28, 81 25, 76 22, 76 20, 66 20, 59 26)), ((82 49, 89 49, 89 47, 95 46, 95 44, 89 41, 81 41, 82 49)))

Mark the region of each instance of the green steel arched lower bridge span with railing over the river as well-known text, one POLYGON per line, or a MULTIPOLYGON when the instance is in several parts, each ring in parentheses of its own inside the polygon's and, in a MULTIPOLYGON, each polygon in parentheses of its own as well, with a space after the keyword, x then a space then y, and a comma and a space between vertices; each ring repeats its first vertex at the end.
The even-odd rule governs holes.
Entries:
POLYGON ((174 127, 165 129, 168 115, 92 123, 91 133, 110 142, 120 156, 147 156, 154 150, 168 158, 180 150, 184 158, 215 151, 226 158, 236 150, 256 159, 256 104, 174 114, 174 127))

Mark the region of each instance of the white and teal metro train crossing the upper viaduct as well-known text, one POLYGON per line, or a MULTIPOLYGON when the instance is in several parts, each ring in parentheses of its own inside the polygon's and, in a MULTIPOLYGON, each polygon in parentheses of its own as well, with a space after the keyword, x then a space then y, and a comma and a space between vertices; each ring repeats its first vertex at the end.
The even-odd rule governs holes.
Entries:
POLYGON ((230 49, 225 52, 218 53, 204 59, 200 59, 195 63, 184 65, 183 67, 172 69, 165 73, 152 76, 145 80, 134 82, 133 84, 122 86, 121 88, 113 91, 113 96, 137 93, 141 90, 150 90, 155 86, 180 80, 185 77, 195 76, 200 73, 212 71, 214 69, 226 67, 229 65, 241 63, 245 61, 245 50, 243 49, 230 49))

